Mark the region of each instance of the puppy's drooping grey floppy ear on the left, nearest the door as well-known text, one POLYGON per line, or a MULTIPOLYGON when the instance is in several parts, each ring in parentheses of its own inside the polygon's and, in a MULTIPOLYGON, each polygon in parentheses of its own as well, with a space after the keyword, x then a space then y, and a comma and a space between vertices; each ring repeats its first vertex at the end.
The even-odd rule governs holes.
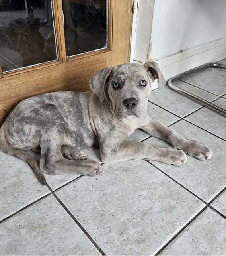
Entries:
POLYGON ((90 88, 99 97, 100 101, 103 101, 105 98, 104 87, 111 75, 111 72, 111 67, 105 67, 95 73, 90 79, 90 88))

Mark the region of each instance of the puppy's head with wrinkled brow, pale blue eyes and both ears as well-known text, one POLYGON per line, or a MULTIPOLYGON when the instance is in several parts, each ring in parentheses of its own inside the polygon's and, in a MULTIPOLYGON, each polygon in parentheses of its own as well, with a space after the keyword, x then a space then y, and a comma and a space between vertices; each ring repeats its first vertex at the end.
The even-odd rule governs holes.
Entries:
POLYGON ((147 114, 151 83, 155 79, 159 88, 166 83, 157 63, 126 63, 98 71, 90 79, 90 88, 99 100, 107 100, 117 118, 142 118, 147 114))

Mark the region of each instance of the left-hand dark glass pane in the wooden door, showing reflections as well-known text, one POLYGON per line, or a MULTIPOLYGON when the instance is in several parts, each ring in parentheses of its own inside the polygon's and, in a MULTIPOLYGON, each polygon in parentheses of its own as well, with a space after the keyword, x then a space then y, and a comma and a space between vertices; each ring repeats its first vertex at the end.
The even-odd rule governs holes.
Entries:
POLYGON ((2 71, 56 59, 51 0, 0 0, 2 71))

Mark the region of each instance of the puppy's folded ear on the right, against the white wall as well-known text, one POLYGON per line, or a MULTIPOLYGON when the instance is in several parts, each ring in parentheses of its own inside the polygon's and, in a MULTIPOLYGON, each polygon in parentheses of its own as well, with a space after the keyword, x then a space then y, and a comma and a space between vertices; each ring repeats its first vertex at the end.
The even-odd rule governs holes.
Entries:
POLYGON ((144 63, 144 68, 148 72, 149 77, 154 82, 156 78, 158 79, 158 88, 161 90, 162 87, 166 84, 166 80, 158 67, 158 64, 154 61, 147 61, 144 63))

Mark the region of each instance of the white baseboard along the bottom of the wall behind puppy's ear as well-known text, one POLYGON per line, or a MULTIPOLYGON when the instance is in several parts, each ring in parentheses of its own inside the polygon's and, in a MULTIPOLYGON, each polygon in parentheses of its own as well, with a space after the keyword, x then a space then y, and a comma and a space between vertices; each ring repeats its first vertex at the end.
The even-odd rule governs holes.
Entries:
MULTIPOLYGON (((166 81, 189 69, 208 62, 216 62, 226 58, 226 37, 185 49, 168 57, 155 60, 166 81)), ((152 59, 150 59, 152 61, 152 59)), ((157 81, 152 83, 152 90, 157 88, 157 81)))

